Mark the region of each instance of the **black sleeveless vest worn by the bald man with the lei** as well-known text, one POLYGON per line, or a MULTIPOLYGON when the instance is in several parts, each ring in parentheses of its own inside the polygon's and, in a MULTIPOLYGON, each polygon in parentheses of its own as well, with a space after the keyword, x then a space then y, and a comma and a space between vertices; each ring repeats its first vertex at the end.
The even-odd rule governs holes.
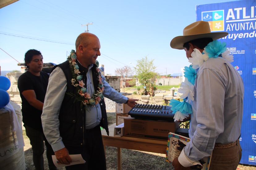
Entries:
MULTIPOLYGON (((67 90, 66 93, 71 92, 73 94, 77 94, 77 90, 71 84, 72 73, 70 71, 69 62, 66 60, 64 63, 56 65, 53 67, 52 71, 56 68, 60 67, 64 72, 67 80, 67 90)), ((92 78, 94 89, 98 87, 98 81, 96 79, 96 65, 92 67, 92 78)), ((85 84, 87 81, 85 77, 85 84)), ((62 137, 62 142, 65 146, 83 146, 86 141, 84 141, 84 136, 86 135, 85 131, 85 107, 81 108, 80 102, 74 103, 74 98, 71 98, 69 95, 65 93, 64 99, 62 101, 62 105, 59 113, 59 131, 60 136, 62 137)), ((100 102, 100 109, 102 114, 102 119, 100 121, 100 126, 103 127, 107 134, 109 135, 108 128, 108 120, 107 120, 107 112, 104 100, 100 102)))

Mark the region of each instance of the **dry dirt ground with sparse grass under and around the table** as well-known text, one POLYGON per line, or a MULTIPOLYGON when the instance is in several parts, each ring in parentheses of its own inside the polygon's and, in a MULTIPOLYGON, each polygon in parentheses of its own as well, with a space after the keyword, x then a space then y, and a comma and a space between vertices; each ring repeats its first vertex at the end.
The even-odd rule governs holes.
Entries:
MULTIPOLYGON (((134 99, 140 99, 140 95, 134 95, 131 89, 125 91, 128 93, 126 96, 134 99)), ((167 91, 164 94, 169 94, 167 91)), ((107 111, 109 125, 116 122, 115 110, 107 111)), ((34 170, 34 164, 32 160, 32 148, 28 137, 23 133, 25 147, 25 163, 27 170, 34 170)), ((45 170, 48 170, 48 163, 46 159, 46 152, 44 152, 45 170)), ((106 147, 106 164, 108 170, 117 169, 117 148, 106 147)), ((65 168, 59 168, 64 170, 65 168)), ((122 169, 123 170, 174 170, 170 163, 165 161, 165 154, 143 152, 130 149, 122 149, 122 169)), ((256 170, 256 167, 238 165, 237 170, 256 170)))

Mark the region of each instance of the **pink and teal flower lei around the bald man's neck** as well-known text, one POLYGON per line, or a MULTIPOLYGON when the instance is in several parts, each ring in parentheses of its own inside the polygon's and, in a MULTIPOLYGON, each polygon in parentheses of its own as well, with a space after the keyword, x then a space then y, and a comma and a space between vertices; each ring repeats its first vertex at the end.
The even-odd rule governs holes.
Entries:
POLYGON ((98 89, 96 90, 96 93, 94 93, 92 96, 87 93, 87 89, 85 87, 85 83, 83 82, 83 75, 79 75, 81 73, 79 71, 79 66, 76 63, 76 54, 75 50, 71 50, 70 55, 68 56, 68 62, 70 66, 70 70, 72 72, 72 79, 71 83, 74 87, 76 87, 77 93, 67 93, 72 98, 75 98, 74 102, 81 102, 81 106, 95 106, 97 105, 104 97, 103 97, 103 91, 104 91, 104 85, 102 82, 99 62, 96 61, 96 74, 97 74, 97 80, 99 82, 98 89))

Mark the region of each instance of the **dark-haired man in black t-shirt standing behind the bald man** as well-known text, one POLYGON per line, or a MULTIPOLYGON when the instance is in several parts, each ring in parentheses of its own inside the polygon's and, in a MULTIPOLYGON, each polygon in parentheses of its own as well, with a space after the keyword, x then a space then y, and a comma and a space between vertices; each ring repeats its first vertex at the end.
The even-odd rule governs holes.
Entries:
POLYGON ((44 169, 44 141, 49 169, 56 169, 52 161, 54 152, 47 142, 41 122, 45 93, 49 75, 42 72, 43 56, 40 51, 28 50, 25 54, 26 72, 18 79, 18 88, 22 100, 22 121, 33 151, 33 162, 36 170, 44 169))

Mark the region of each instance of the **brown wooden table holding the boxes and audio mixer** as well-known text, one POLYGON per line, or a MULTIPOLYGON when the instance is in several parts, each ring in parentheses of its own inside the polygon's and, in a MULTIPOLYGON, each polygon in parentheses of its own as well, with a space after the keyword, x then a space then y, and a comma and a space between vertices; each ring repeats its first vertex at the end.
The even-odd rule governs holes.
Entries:
POLYGON ((155 152, 166 154, 167 140, 143 139, 137 137, 114 136, 116 123, 109 126, 109 136, 105 129, 101 131, 104 148, 105 146, 117 147, 117 168, 122 170, 121 148, 138 151, 155 152))

